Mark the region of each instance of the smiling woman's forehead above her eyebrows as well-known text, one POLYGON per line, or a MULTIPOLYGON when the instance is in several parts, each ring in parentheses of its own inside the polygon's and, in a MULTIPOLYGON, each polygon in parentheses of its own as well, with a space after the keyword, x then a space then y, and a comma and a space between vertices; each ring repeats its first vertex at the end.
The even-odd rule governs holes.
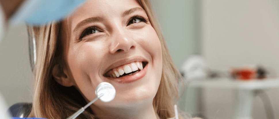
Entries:
POLYGON ((109 19, 121 16, 121 14, 131 8, 141 7, 137 0, 88 0, 67 21, 70 22, 71 29, 81 21, 90 17, 100 17, 109 19))

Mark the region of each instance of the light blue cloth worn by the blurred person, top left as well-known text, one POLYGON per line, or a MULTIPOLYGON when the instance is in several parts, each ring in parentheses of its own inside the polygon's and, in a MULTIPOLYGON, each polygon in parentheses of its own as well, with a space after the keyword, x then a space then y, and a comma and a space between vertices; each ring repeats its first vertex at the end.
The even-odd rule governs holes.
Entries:
POLYGON ((12 23, 25 21, 41 25, 53 20, 61 20, 85 0, 26 0, 11 18, 12 23))

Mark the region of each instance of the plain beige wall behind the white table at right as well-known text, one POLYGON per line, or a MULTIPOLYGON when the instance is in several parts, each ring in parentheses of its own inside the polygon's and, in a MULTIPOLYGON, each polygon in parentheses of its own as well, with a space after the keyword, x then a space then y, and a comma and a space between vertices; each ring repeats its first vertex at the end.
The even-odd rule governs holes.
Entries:
MULTIPOLYGON (((279 76, 279 1, 201 0, 201 43, 211 69, 261 64, 279 76)), ((267 91, 276 118, 278 91, 267 91)), ((206 116, 232 118, 234 90, 207 89, 204 96, 206 116)), ((266 118, 262 102, 254 101, 253 117, 266 118)))

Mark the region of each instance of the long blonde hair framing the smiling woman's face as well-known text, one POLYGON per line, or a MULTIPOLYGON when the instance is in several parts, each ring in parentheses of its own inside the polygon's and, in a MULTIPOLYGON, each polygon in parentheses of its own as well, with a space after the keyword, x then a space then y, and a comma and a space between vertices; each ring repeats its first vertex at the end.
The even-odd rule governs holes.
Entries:
MULTIPOLYGON (((162 77, 158 92, 153 100, 154 110, 159 118, 170 118, 175 115, 173 106, 179 97, 178 83, 182 77, 171 60, 150 2, 148 0, 138 0, 138 2, 146 11, 162 47, 162 77)), ((29 117, 67 118, 86 105, 79 91, 74 87, 61 86, 52 77, 53 66, 55 64, 63 66, 63 49, 59 38, 60 27, 61 23, 52 22, 44 26, 33 26, 32 29, 29 29, 34 31, 35 39, 37 39, 37 61, 33 71, 35 75, 35 92, 29 117)), ((95 116, 91 109, 87 109, 78 118, 94 119, 95 116)))

